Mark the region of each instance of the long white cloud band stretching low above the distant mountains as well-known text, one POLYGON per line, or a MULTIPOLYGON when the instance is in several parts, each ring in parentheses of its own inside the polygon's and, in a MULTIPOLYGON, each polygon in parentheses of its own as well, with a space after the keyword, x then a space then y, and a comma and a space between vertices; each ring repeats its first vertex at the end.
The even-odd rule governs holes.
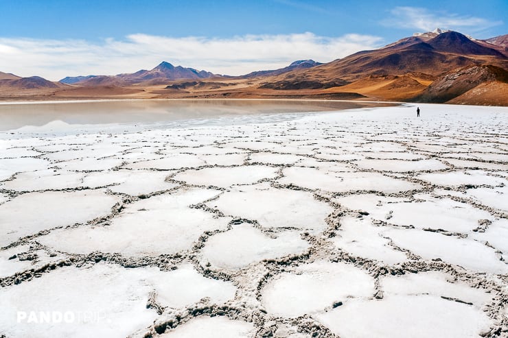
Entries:
POLYGON ((233 38, 132 34, 125 40, 109 38, 100 43, 0 38, 0 71, 60 80, 65 76, 131 73, 152 69, 165 60, 212 73, 242 75, 286 67, 301 59, 330 62, 356 51, 379 47, 380 43, 382 39, 377 36, 326 37, 312 33, 233 38))

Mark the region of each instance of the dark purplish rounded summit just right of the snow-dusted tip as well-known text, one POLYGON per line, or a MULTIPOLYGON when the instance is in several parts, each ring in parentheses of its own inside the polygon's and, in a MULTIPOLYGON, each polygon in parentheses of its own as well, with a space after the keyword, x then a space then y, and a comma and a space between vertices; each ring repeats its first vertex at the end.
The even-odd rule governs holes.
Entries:
POLYGON ((480 56, 500 56, 503 53, 489 47, 485 47, 467 38, 459 32, 444 32, 435 38, 428 40, 428 44, 437 51, 445 53, 461 54, 464 56, 480 55, 480 56))

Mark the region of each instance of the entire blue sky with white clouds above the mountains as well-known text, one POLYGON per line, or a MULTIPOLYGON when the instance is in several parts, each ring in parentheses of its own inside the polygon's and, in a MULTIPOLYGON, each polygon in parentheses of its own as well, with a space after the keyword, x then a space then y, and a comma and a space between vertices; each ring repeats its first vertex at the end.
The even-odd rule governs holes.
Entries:
POLYGON ((0 71, 58 80, 166 60, 239 75, 330 62, 436 27, 507 34, 506 13, 506 0, 0 0, 0 71))

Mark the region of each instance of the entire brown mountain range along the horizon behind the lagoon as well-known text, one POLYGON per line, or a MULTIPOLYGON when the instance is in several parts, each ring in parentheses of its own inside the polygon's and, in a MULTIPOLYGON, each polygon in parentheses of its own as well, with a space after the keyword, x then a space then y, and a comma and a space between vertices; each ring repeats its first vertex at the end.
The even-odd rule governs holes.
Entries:
POLYGON ((18 77, 0 72, 0 99, 325 98, 508 106, 508 35, 476 40, 436 29, 332 62, 298 60, 241 76, 161 62, 118 75, 18 77))

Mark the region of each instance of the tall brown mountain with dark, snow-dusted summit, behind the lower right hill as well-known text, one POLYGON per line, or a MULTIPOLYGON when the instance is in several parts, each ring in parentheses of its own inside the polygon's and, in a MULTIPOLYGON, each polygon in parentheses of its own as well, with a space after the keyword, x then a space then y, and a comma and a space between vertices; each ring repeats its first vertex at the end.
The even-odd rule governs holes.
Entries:
POLYGON ((299 73, 287 73, 280 80, 359 80, 369 74, 404 75, 417 72, 438 76, 468 65, 494 64, 508 68, 500 51, 476 43, 458 32, 445 32, 424 40, 417 36, 373 51, 360 51, 346 58, 299 73))

